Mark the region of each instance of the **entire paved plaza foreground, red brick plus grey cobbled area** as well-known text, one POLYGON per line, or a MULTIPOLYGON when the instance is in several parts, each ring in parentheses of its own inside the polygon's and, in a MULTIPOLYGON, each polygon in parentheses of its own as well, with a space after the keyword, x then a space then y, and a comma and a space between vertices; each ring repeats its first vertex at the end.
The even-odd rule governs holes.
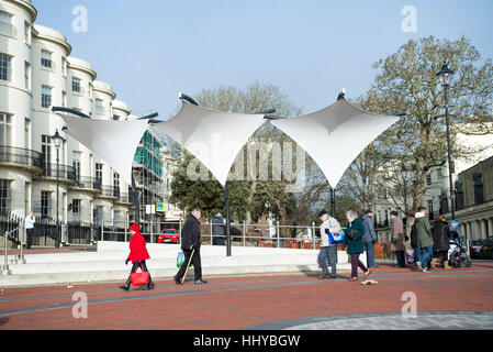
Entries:
MULTIPOLYGON (((492 329, 493 263, 430 273, 380 264, 374 286, 313 274, 204 277, 184 286, 155 277, 156 289, 122 292, 123 283, 3 288, 1 330, 351 330, 492 329), (405 295, 407 293, 407 296, 405 295), (403 318, 408 293, 416 318, 403 318), (76 294, 76 295, 75 295, 76 294), (87 297, 87 318, 77 305, 87 297), (77 316, 77 314, 76 314, 77 316), (138 317, 139 324, 135 326, 138 317)), ((80 308, 80 306, 79 306, 80 308)))

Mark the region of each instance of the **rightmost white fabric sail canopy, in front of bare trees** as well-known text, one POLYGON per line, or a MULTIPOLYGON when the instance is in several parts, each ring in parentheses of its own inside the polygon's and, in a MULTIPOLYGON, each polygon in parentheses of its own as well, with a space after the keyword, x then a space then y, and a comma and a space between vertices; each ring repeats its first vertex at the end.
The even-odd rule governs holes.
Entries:
POLYGON ((300 144, 336 188, 352 161, 397 120, 369 113, 339 99, 320 111, 271 123, 300 144))

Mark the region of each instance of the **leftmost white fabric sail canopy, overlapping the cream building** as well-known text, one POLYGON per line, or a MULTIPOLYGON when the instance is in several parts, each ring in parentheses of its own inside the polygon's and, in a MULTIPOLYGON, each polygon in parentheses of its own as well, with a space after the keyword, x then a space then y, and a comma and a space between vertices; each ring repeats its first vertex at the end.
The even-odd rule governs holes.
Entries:
POLYGON ((128 185, 132 184, 132 165, 135 151, 148 120, 94 120, 57 112, 67 124, 67 134, 90 148, 113 167, 128 185))

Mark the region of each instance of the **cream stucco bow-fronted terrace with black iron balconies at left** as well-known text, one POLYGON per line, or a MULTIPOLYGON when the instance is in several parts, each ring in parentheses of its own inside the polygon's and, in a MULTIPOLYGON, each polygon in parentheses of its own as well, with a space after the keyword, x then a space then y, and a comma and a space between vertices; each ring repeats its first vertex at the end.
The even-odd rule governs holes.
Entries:
POLYGON ((55 219, 57 150, 52 136, 58 131, 64 138, 58 152, 59 219, 123 222, 133 212, 128 185, 64 131, 52 107, 76 109, 92 119, 136 117, 116 100, 111 85, 97 80, 91 64, 70 56, 64 34, 34 24, 36 15, 30 0, 0 0, 0 216, 24 218, 33 210, 55 219))

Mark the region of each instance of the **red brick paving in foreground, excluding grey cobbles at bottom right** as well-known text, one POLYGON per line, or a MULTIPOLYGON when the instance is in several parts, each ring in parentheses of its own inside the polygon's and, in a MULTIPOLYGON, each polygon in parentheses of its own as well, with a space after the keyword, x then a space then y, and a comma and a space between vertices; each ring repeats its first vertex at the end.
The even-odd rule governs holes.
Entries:
MULTIPOLYGON (((206 273, 206 268, 204 268, 206 273)), ((424 274, 408 268, 380 265, 372 275, 379 285, 349 282, 321 282, 305 275, 213 277, 204 286, 188 282, 177 286, 170 279, 156 282, 152 292, 120 292, 121 283, 7 288, 0 296, 1 311, 70 304, 71 296, 46 297, 75 292, 94 299, 145 297, 193 290, 193 294, 89 305, 88 319, 74 319, 71 307, 0 316, 1 329, 157 329, 205 330, 242 329, 280 320, 350 315, 399 312, 404 292, 417 295, 418 311, 493 311, 493 263, 478 262, 471 268, 437 270, 424 274), (401 277, 401 276, 408 277, 401 277), (439 276, 439 277, 435 277, 439 276), (251 287, 262 284, 303 283, 280 287, 251 287), (247 286, 237 290, 204 289, 247 286), (248 287, 250 286, 250 287, 248 287), (197 292, 197 293, 195 293, 197 292), (29 298, 9 300, 12 298, 29 298), (3 299, 3 301, 2 301, 3 299), (135 321, 139 324, 136 326, 135 321)), ((74 302, 75 304, 75 302, 74 302)))

